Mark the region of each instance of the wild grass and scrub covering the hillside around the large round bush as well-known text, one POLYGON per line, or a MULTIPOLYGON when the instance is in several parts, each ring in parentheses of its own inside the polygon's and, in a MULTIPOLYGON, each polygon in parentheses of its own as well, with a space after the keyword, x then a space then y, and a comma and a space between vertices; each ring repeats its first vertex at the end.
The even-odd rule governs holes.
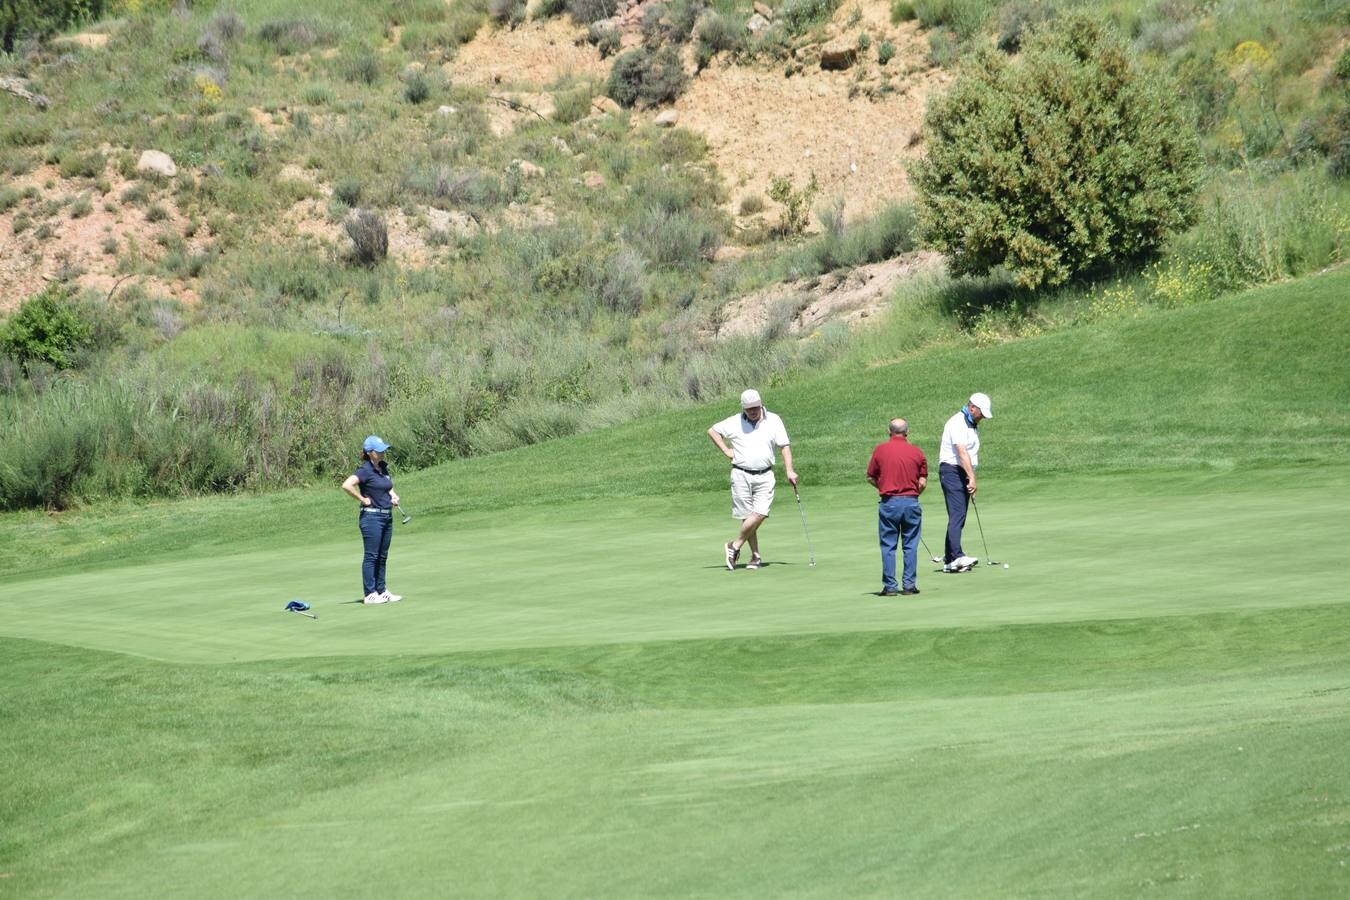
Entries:
MULTIPOLYGON (((0 169, 51 173, 0 189, 14 233, 49 239, 109 209, 151 228, 100 239, 127 286, 80 290, 78 266, 62 266, 63 285, 9 298, 0 457, 46 463, 22 476, 0 468, 5 509, 332 480, 371 430, 402 448, 404 466, 424 467, 748 382, 787 383, 846 366, 875 339, 841 325, 805 340, 782 328, 720 339, 726 304, 921 244, 903 198, 846 224, 826 201, 821 228, 801 236, 805 200, 791 223, 751 240, 730 225, 734 200, 702 139, 599 115, 601 81, 551 85, 558 115, 525 113, 498 134, 502 97, 452 82, 441 63, 481 28, 512 27, 517 5, 169 5, 74 4, 63 20, 30 18, 0 57, 53 100, 39 111, 0 96, 0 169), (31 36, 73 23, 107 34, 107 46, 31 36), (178 174, 138 173, 146 147, 170 154, 178 174), (74 182, 69 196, 47 186, 57 177, 74 182), (742 258, 714 259, 741 239, 742 258), (66 337, 19 340, 16 322, 39 312, 65 322, 66 337), (171 453, 157 449, 165 443, 171 453)), ((660 103, 679 80, 653 62, 672 47, 702 40, 707 58, 760 65, 834 12, 784 3, 776 36, 761 32, 737 55, 728 45, 741 26, 728 18, 747 16, 741 5, 644 13, 647 55, 616 67, 609 86, 660 103)), ((543 4, 535 15, 593 22, 613 12, 602 7, 543 4)), ((1099 9, 1035 7, 917 3, 913 13, 949 32, 964 66, 986 38, 1019 51, 1071 8, 1099 9)), ((1204 161, 1195 224, 1157 235, 1152 256, 1095 256, 1056 287, 1002 269, 907 283, 894 301, 892 333, 905 337, 892 356, 1203 302, 1343 260, 1342 9, 1233 0, 1111 4, 1099 18, 1123 35, 1139 78, 1183 88, 1179 128, 1193 128, 1204 161)))

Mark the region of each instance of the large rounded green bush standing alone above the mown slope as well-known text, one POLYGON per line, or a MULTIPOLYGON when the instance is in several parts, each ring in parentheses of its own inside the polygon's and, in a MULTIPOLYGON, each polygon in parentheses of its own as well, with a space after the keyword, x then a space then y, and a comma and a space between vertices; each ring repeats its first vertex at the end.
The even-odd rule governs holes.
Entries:
POLYGON ((1195 221, 1196 135, 1176 92, 1106 27, 1069 16, 1010 61, 975 57, 927 113, 919 223, 954 274, 1060 285, 1195 221))

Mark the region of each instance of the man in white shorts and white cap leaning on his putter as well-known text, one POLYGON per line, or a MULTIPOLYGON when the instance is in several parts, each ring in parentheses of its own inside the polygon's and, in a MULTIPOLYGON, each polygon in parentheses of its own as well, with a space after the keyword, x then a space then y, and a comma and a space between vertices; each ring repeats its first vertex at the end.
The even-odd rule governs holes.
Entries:
POLYGON ((768 509, 774 503, 775 447, 783 451, 787 480, 796 487, 787 429, 783 428, 782 418, 764 409, 759 391, 747 390, 741 394, 740 414, 717 422, 707 429, 707 436, 732 460, 732 515, 741 519, 736 540, 722 548, 726 568, 736 571, 741 546, 749 544, 751 561, 745 568, 757 569, 764 564, 759 553, 759 526, 768 518, 768 509))

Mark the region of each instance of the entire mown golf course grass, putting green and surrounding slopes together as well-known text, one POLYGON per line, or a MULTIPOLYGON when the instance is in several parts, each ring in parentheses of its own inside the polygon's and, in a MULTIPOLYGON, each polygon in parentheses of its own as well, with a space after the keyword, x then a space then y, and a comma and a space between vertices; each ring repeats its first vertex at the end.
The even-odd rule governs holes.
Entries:
POLYGON ((405 479, 396 606, 335 490, 9 517, 0 893, 1343 895, 1347 294, 765 389, 814 569, 787 491, 720 568, 721 406, 405 479), (1010 568, 882 600, 968 382, 1010 568))

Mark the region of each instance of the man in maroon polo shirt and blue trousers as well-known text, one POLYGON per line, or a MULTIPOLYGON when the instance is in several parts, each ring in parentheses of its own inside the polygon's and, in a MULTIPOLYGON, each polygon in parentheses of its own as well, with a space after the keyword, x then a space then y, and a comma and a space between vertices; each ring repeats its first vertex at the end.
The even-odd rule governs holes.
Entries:
POLYGON ((923 509, 919 494, 927 487, 927 459, 910 444, 910 424, 891 420, 891 439, 878 444, 867 464, 867 480, 882 495, 876 507, 876 532, 882 540, 882 596, 918 594, 919 526, 923 509), (905 555, 902 587, 895 583, 895 544, 905 555))

